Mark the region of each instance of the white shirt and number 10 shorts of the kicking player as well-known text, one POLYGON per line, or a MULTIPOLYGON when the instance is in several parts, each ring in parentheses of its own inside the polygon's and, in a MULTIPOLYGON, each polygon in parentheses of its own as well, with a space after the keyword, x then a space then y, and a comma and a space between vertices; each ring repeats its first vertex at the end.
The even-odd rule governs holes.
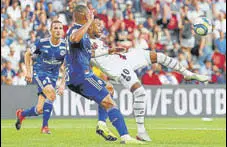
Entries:
MULTIPOLYGON (((98 38, 90 39, 91 44, 96 44, 98 50, 108 50, 108 46, 98 38)), ((132 49, 124 54, 126 59, 119 55, 105 55, 92 58, 91 62, 99 67, 111 80, 131 88, 136 82, 140 82, 135 71, 151 64, 149 51, 132 49)))

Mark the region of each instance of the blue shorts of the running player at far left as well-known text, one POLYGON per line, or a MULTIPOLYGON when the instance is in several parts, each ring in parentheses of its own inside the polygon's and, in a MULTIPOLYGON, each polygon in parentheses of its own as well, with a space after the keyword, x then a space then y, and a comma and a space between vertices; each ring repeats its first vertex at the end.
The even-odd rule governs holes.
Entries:
POLYGON ((33 75, 33 81, 36 85, 38 85, 38 95, 42 93, 43 88, 47 85, 52 85, 56 88, 57 79, 54 79, 47 75, 33 75))

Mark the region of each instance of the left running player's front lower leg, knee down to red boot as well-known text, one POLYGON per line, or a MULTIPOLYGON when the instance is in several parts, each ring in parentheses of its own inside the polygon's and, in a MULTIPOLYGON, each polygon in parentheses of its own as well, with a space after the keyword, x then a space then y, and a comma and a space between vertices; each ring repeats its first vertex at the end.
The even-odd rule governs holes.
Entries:
POLYGON ((52 85, 45 86, 43 89, 43 93, 46 96, 46 100, 43 105, 43 125, 41 129, 41 133, 51 134, 48 128, 48 121, 50 119, 50 115, 53 110, 53 102, 56 99, 56 93, 52 85))

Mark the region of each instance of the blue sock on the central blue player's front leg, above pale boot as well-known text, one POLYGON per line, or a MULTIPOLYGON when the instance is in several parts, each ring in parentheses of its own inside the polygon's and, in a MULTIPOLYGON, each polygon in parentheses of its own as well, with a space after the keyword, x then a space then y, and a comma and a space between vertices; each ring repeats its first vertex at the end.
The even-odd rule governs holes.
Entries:
POLYGON ((110 108, 107 111, 107 113, 110 121, 112 122, 113 126, 117 129, 120 136, 128 134, 128 129, 126 127, 124 117, 121 114, 121 112, 117 108, 113 107, 110 108))

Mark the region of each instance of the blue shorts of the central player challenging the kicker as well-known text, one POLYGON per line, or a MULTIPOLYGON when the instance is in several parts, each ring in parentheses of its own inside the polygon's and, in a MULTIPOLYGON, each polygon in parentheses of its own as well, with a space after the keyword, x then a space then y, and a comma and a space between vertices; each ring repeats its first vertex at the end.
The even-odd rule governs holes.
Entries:
POLYGON ((106 83, 94 74, 82 79, 80 84, 70 84, 68 88, 83 97, 94 100, 100 104, 102 100, 109 94, 106 89, 106 83))

